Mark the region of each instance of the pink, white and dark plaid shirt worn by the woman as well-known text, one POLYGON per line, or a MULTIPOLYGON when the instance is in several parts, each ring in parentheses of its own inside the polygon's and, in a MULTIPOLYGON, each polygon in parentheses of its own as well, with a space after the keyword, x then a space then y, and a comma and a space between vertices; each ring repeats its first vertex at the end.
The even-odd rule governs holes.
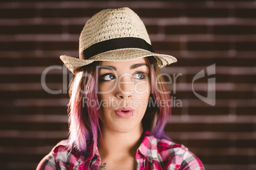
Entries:
MULTIPOLYGON (((68 140, 60 141, 41 160, 37 170, 46 169, 99 169, 101 159, 93 145, 87 148, 89 154, 82 155, 66 148, 68 140)), ((196 155, 183 145, 168 140, 145 136, 136 153, 137 169, 187 169, 203 170, 204 166, 196 155)))

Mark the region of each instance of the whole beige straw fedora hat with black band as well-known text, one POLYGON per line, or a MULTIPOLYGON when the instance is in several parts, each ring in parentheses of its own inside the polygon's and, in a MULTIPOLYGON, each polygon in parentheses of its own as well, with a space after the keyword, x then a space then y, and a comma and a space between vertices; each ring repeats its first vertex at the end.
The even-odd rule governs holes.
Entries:
POLYGON ((62 55, 60 60, 75 74, 94 61, 127 61, 154 56, 161 68, 177 62, 170 55, 155 53, 146 27, 130 8, 108 9, 92 16, 80 34, 79 58, 62 55))

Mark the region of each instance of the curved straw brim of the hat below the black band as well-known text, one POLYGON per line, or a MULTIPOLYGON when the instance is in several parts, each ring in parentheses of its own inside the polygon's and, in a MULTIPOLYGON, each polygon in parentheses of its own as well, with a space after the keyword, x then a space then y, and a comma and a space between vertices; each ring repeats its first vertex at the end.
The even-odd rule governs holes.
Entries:
POLYGON ((73 74, 75 74, 76 69, 84 65, 89 65, 90 63, 95 61, 121 62, 127 60, 134 60, 136 58, 144 58, 146 56, 154 56, 157 59, 157 65, 159 66, 159 68, 177 62, 177 59, 174 56, 152 53, 145 49, 139 48, 125 48, 106 51, 104 53, 92 56, 89 60, 82 60, 80 58, 62 55, 60 56, 60 60, 62 60, 64 65, 66 65, 66 67, 73 74))

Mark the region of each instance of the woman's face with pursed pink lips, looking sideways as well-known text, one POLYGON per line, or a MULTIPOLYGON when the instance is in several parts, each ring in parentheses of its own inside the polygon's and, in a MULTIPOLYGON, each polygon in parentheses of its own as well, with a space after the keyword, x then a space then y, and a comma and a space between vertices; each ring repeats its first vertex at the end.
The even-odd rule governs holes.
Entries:
POLYGON ((127 133, 142 129, 150 96, 149 71, 144 58, 101 62, 98 96, 103 131, 127 133))

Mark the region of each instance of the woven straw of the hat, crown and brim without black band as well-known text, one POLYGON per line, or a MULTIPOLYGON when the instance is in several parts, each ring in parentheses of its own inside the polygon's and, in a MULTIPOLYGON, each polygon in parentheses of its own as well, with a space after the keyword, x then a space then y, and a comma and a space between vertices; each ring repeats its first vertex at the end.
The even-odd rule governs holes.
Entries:
POLYGON ((146 27, 139 16, 129 8, 108 9, 92 16, 80 34, 79 58, 62 55, 60 59, 68 69, 75 70, 94 61, 125 61, 146 56, 155 56, 159 67, 176 62, 176 58, 160 55, 140 48, 124 48, 106 51, 83 60, 83 51, 97 42, 122 37, 138 37, 151 44, 146 27))

